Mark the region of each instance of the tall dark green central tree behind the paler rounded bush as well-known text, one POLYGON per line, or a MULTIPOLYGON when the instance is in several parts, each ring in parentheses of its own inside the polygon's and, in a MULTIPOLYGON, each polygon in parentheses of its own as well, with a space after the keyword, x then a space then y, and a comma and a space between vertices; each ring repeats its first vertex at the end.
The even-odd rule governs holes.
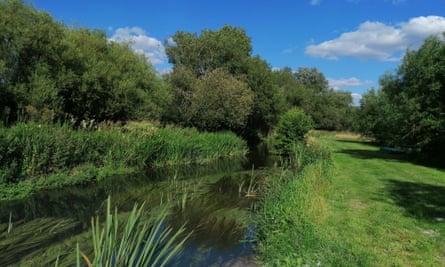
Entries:
MULTIPOLYGON (((244 82, 253 92, 253 108, 248 109, 247 124, 243 129, 237 127, 237 132, 252 137, 258 132, 268 132, 277 122, 280 112, 276 101, 278 92, 271 68, 260 57, 251 55, 251 41, 243 29, 226 25, 216 31, 203 30, 200 35, 177 32, 166 44, 169 62, 173 64, 168 80, 175 92, 176 104, 170 112, 170 120, 190 123, 187 113, 192 106, 196 109, 193 102, 197 101, 192 92, 201 91, 195 88, 199 84, 197 81, 219 69, 244 82)), ((207 108, 219 107, 207 105, 207 108)))

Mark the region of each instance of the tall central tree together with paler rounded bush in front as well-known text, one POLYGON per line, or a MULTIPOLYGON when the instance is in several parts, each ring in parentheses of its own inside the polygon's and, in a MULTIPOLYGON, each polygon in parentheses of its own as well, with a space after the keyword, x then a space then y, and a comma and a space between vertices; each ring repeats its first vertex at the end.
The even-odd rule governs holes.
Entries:
POLYGON ((251 56, 250 38, 243 29, 226 25, 217 31, 203 30, 199 36, 177 32, 172 39, 173 42, 167 43, 166 53, 169 62, 174 65, 168 79, 174 88, 175 107, 172 107, 167 119, 209 130, 236 130, 248 137, 270 131, 281 112, 278 91, 268 64, 258 56, 251 56), (217 80, 216 73, 225 77, 222 83, 225 86, 211 84, 211 80, 217 80), (241 83, 245 83, 247 88, 241 83), (234 92, 227 90, 233 85, 242 90, 228 94, 234 92), (249 90, 253 92, 253 97, 247 93, 249 90), (204 105, 201 96, 211 99, 214 106, 210 103, 204 105), (223 99, 216 101, 217 97, 223 99), (253 106, 250 98, 253 99, 253 106), (240 110, 242 105, 245 108, 240 110), (234 112, 229 112, 232 108, 234 112), (201 123, 197 115, 205 115, 206 118, 201 123), (224 115, 227 115, 224 122, 215 118, 224 115), (215 118, 215 121, 211 122, 210 118, 215 118))

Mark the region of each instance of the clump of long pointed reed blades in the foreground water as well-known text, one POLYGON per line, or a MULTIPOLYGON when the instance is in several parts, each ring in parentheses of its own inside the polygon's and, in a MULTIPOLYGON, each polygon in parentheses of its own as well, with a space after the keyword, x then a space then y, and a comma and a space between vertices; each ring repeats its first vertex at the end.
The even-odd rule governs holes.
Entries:
POLYGON ((121 225, 117 209, 111 211, 109 197, 104 226, 101 228, 98 217, 91 220, 94 258, 77 252, 77 266, 81 266, 82 259, 89 266, 165 266, 188 238, 180 239, 185 228, 166 227, 165 210, 149 221, 142 217, 143 211, 144 204, 135 204, 121 225))

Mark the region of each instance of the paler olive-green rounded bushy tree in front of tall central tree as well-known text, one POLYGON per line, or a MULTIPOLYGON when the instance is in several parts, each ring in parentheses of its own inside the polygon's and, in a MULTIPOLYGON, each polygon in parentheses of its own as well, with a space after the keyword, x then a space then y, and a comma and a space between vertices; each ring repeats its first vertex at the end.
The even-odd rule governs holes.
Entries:
POLYGON ((252 104, 253 93, 246 83, 215 69, 196 82, 186 116, 199 129, 239 131, 246 125, 252 104))

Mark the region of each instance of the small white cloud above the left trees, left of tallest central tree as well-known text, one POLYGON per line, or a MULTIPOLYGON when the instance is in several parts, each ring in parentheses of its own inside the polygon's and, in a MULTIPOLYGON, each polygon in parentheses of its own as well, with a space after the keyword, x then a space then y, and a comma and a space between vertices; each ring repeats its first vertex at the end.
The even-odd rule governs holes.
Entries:
POLYGON ((153 65, 165 63, 167 59, 162 42, 148 36, 139 27, 118 28, 110 39, 119 43, 130 43, 135 52, 144 54, 153 65))

